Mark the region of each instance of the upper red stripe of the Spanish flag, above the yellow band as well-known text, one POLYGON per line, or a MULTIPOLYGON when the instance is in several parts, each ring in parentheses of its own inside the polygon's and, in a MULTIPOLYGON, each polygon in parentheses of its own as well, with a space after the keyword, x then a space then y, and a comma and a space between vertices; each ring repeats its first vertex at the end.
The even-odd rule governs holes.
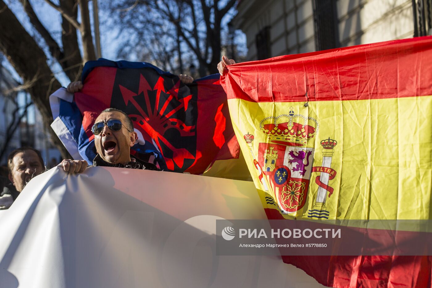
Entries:
POLYGON ((431 48, 432 36, 426 36, 234 64, 221 84, 228 99, 251 102, 428 96, 431 48), (226 77, 237 86, 227 87, 226 77))

